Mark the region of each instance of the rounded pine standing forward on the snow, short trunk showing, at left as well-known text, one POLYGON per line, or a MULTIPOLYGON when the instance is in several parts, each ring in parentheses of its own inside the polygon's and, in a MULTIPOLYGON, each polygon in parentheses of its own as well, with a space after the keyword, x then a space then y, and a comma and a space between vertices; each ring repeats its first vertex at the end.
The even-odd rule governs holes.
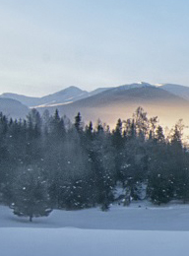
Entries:
POLYGON ((51 203, 48 196, 47 183, 43 180, 40 171, 35 166, 22 170, 14 184, 14 202, 10 208, 19 217, 48 216, 51 203))

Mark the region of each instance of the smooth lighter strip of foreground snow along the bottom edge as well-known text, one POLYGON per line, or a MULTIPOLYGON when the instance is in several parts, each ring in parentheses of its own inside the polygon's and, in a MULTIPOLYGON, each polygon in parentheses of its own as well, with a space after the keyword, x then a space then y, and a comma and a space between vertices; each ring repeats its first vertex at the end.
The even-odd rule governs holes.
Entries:
POLYGON ((2 228, 1 256, 178 256, 189 250, 189 232, 2 228))

